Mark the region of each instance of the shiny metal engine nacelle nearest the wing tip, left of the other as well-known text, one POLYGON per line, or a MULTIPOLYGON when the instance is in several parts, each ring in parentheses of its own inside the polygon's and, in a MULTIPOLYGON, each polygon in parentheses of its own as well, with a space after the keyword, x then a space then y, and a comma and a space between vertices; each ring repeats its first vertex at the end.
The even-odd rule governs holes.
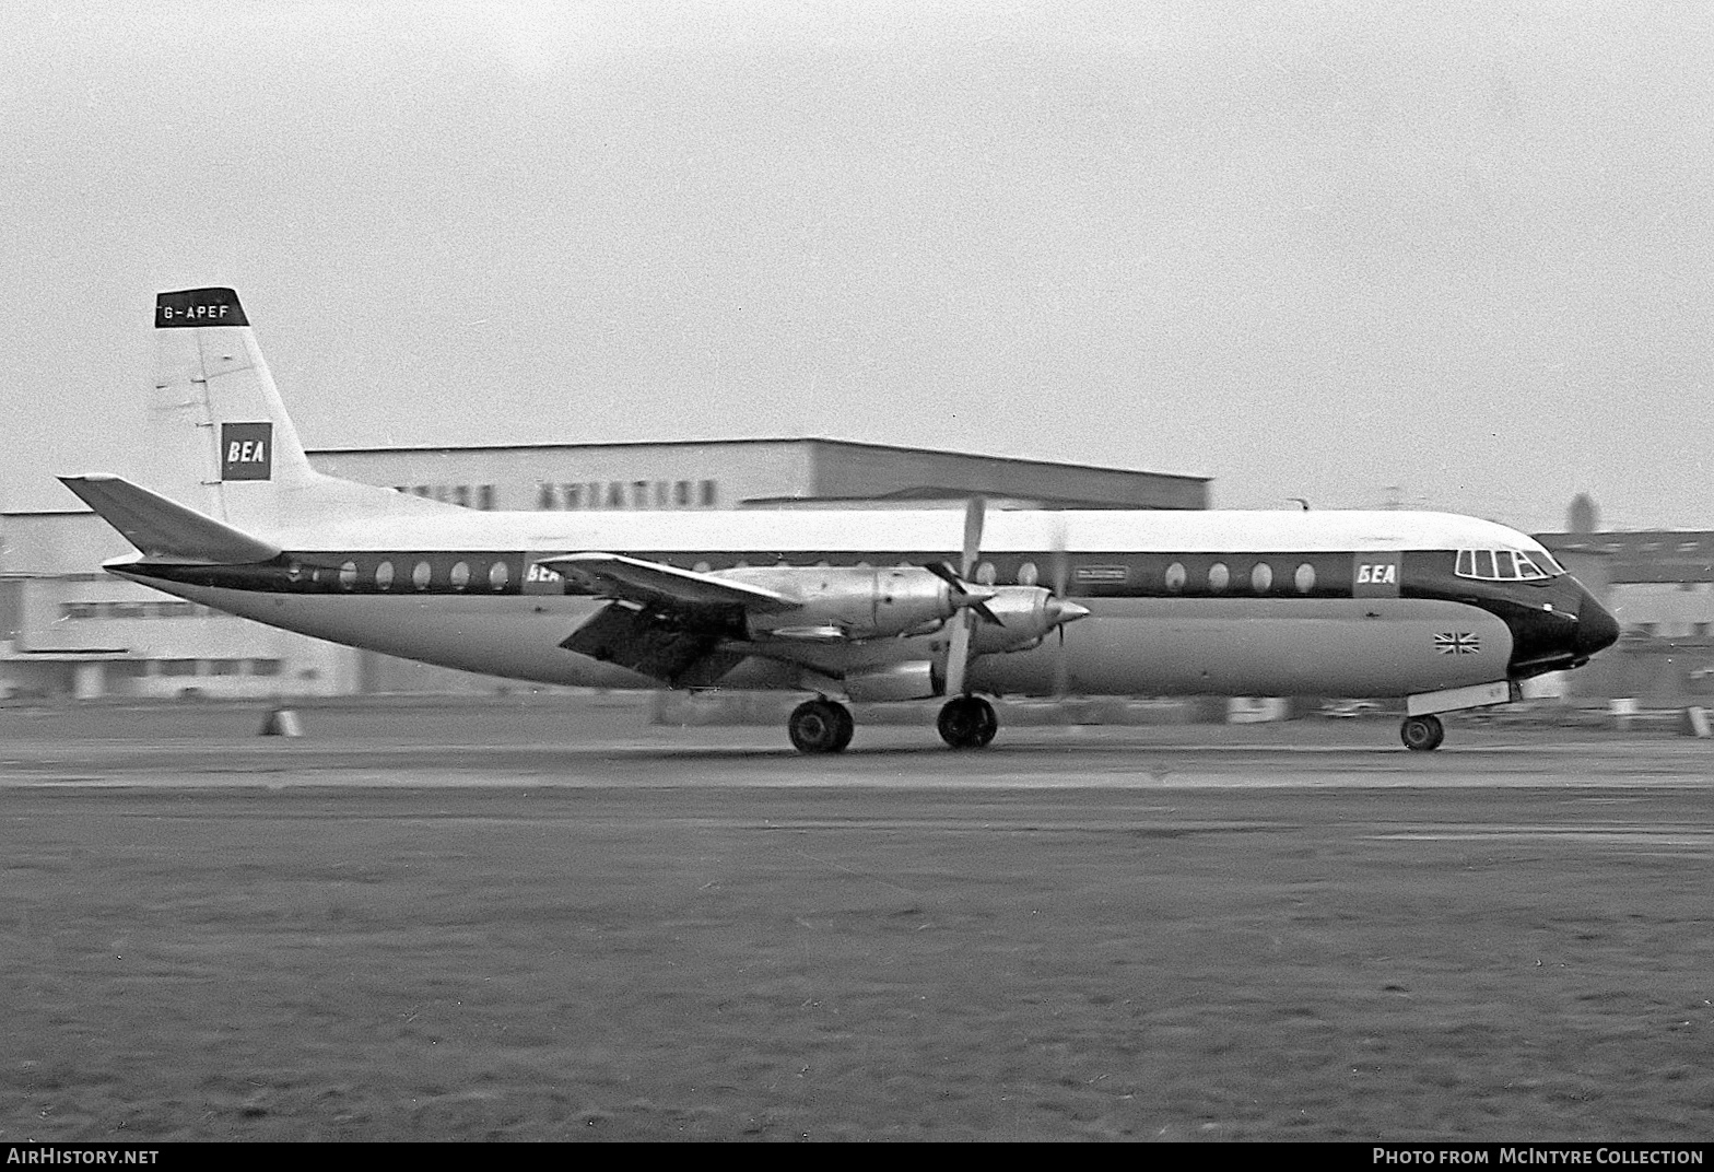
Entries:
POLYGON ((782 613, 746 615, 752 639, 931 634, 958 610, 951 588, 919 565, 770 565, 725 571, 722 577, 802 600, 802 607, 782 613))

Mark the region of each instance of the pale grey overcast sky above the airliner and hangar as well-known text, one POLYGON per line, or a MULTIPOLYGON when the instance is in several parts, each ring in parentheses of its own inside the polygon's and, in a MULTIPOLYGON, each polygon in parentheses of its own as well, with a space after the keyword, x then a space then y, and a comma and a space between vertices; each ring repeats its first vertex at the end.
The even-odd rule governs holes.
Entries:
POLYGON ((1714 528, 1714 5, 55 3, 0 39, 0 504, 158 290, 310 447, 828 435, 1714 528))

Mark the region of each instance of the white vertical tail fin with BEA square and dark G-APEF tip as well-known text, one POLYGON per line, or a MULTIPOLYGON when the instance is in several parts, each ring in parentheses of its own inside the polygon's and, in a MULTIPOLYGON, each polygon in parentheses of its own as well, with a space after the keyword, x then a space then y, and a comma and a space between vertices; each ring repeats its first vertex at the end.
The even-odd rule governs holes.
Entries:
POLYGON ((312 469, 233 290, 158 295, 154 339, 147 440, 185 504, 250 533, 451 507, 312 469))

